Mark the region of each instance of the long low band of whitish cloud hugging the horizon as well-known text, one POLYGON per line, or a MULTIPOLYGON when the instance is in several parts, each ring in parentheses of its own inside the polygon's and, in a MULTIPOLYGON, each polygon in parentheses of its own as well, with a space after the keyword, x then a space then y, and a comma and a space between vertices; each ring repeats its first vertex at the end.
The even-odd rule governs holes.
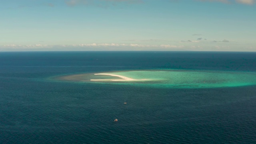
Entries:
POLYGON ((72 44, 72 45, 16 45, 8 44, 0 46, 0 51, 70 51, 70 50, 181 50, 183 45, 149 45, 149 44, 115 44, 115 43, 102 43, 102 44, 72 44))

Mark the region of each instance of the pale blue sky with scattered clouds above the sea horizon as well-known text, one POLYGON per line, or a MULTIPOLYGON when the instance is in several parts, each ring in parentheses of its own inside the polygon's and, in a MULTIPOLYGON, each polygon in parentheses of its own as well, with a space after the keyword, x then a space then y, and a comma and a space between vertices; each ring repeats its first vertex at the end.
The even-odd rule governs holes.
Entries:
POLYGON ((256 0, 1 0, 0 51, 256 52, 256 0))

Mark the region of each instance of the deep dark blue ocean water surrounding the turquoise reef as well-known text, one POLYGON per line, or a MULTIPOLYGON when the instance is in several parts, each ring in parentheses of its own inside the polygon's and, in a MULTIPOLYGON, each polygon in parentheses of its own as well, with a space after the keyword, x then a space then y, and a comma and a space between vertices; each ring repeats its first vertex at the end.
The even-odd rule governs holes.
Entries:
POLYGON ((256 72, 256 53, 0 52, 0 143, 256 143, 256 86, 182 89, 53 79, 161 69, 256 72))

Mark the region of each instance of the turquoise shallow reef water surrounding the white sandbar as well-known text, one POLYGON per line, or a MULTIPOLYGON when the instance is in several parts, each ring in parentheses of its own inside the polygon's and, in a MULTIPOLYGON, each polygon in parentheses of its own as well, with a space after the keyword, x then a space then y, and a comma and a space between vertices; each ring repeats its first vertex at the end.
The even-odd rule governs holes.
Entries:
MULTIPOLYGON (((135 70, 103 72, 136 79, 135 81, 97 81, 102 84, 134 84, 158 88, 220 88, 256 85, 255 72, 205 71, 205 70, 135 70)), ((90 79, 122 79, 116 76, 79 74, 60 79, 76 82, 96 82, 90 79)), ((96 82, 96 83, 97 83, 96 82)))

